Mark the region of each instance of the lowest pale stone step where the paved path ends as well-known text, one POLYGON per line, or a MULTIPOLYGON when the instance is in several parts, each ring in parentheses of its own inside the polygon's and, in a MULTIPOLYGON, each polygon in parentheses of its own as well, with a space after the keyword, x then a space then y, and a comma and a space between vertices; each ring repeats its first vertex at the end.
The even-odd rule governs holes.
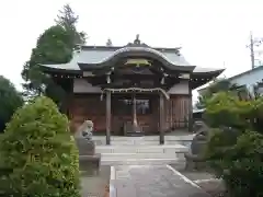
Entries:
POLYGON ((164 164, 176 164, 182 165, 184 161, 178 159, 125 159, 125 160, 113 160, 103 159, 101 160, 102 165, 164 165, 164 164))

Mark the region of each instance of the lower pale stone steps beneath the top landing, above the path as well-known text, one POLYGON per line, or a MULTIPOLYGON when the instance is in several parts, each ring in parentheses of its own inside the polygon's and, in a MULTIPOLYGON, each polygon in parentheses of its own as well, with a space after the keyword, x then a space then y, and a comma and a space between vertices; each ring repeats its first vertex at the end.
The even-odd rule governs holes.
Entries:
POLYGON ((96 146, 102 165, 176 164, 184 161, 185 146, 96 146))

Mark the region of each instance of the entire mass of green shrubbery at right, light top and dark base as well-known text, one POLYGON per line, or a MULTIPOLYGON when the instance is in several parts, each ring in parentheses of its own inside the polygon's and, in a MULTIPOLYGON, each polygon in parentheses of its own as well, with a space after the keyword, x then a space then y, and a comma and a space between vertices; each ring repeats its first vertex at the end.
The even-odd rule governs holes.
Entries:
POLYGON ((231 197, 263 196, 263 99, 240 101, 219 93, 207 102, 214 127, 205 157, 231 197))

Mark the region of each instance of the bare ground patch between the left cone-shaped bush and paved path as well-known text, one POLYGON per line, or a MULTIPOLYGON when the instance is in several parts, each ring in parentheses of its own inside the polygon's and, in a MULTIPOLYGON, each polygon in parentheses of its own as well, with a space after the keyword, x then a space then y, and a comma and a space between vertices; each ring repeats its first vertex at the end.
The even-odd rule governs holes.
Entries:
POLYGON ((104 197, 105 187, 110 183, 111 166, 101 166, 98 175, 90 172, 81 175, 81 195, 83 197, 104 197))

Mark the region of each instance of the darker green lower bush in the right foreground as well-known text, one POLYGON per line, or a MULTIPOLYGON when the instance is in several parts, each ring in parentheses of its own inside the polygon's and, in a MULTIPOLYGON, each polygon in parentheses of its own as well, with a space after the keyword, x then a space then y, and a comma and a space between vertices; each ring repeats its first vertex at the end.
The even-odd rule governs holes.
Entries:
POLYGON ((263 135, 245 131, 232 146, 221 141, 226 137, 222 131, 216 131, 211 137, 208 147, 213 150, 208 151, 208 163, 225 181, 231 197, 263 196, 261 186, 263 182, 263 135))

